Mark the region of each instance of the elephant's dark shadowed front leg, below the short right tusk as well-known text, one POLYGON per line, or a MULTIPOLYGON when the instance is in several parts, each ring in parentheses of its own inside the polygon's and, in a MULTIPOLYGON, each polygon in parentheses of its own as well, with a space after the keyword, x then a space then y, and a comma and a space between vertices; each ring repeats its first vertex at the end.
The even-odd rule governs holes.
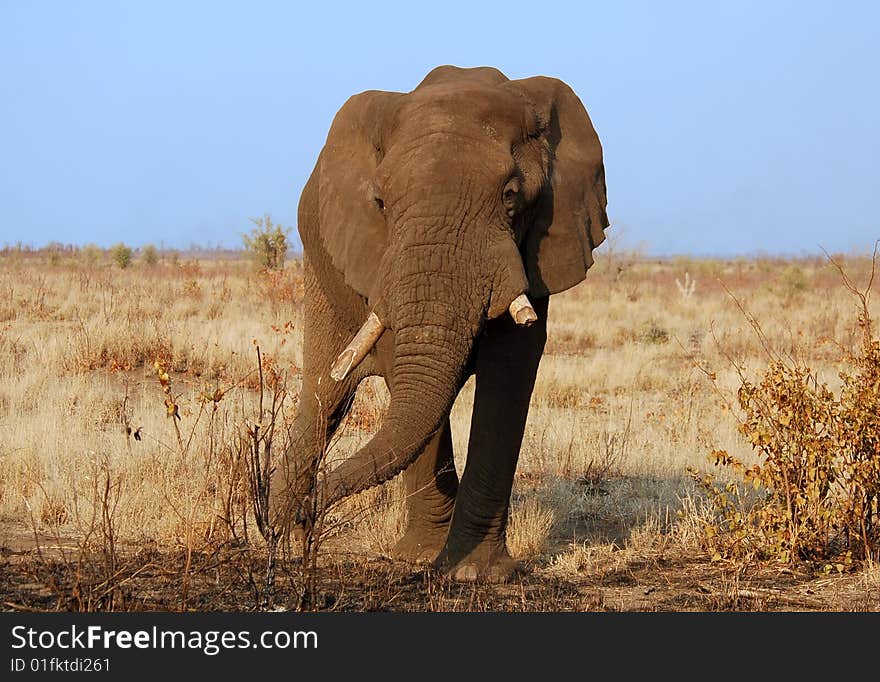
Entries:
POLYGON ((436 561, 458 580, 500 582, 517 568, 506 546, 510 493, 547 338, 548 299, 533 303, 538 320, 531 327, 504 316, 478 341, 467 464, 436 561))

